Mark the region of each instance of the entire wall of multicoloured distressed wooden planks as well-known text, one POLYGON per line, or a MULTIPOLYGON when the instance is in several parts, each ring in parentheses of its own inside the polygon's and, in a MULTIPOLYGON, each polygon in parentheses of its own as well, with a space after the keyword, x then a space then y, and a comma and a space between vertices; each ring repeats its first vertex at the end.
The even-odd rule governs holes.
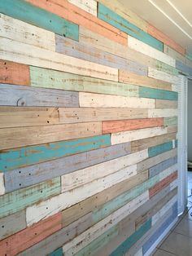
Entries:
POLYGON ((0 254, 146 254, 190 53, 111 0, 1 1, 0 27, 0 254))

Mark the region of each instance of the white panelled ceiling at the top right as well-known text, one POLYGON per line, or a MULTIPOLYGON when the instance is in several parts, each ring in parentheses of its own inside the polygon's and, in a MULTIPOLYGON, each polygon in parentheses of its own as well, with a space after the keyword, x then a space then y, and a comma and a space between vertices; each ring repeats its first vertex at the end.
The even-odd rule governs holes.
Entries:
POLYGON ((192 52, 192 0, 119 0, 192 52))

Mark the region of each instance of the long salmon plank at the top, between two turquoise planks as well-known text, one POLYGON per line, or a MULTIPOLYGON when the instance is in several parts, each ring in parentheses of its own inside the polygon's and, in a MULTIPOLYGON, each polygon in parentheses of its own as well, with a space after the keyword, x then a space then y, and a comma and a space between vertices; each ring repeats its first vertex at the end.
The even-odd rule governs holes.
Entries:
POLYGON ((55 13, 56 15, 79 24, 95 33, 99 33, 105 38, 119 42, 124 46, 127 46, 128 44, 128 36, 126 33, 121 32, 119 29, 107 24, 103 20, 99 20, 94 15, 81 10, 67 0, 27 0, 27 2, 45 9, 46 11, 55 13))

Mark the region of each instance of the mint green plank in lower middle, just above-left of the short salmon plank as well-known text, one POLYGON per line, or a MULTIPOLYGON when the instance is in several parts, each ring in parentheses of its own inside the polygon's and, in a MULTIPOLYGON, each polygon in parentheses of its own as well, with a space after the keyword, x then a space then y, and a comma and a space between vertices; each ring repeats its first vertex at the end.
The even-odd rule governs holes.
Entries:
POLYGON ((124 192, 120 196, 108 201, 106 204, 102 205, 98 210, 93 212, 93 221, 98 223, 101 219, 107 217, 115 210, 119 209, 121 206, 126 205, 129 201, 132 201, 137 196, 141 195, 147 189, 153 187, 155 183, 159 182, 159 175, 155 175, 151 179, 147 179, 144 183, 137 185, 137 187, 124 192))

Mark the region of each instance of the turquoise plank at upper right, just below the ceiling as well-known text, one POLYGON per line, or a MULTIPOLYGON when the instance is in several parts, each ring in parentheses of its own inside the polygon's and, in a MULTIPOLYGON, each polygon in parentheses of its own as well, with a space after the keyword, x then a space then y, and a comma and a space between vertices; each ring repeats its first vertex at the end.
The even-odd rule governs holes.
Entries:
POLYGON ((150 34, 146 33, 142 29, 139 29, 134 24, 125 20, 116 12, 111 11, 109 8, 105 7, 103 4, 98 3, 98 18, 106 21, 108 24, 120 29, 124 33, 129 34, 133 38, 145 42, 149 46, 156 48, 159 51, 164 51, 164 45, 159 40, 153 38, 150 34))

